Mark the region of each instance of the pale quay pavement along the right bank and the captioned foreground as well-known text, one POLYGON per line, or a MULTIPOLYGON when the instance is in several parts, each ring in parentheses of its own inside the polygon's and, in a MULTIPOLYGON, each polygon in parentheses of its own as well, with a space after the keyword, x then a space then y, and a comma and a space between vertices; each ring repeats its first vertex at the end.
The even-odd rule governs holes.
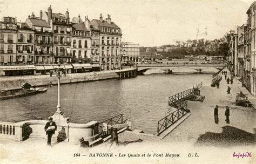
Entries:
POLYGON ((116 144, 111 146, 108 140, 92 148, 56 141, 52 141, 56 142, 53 147, 48 147, 45 139, 1 140, 0 163, 255 163, 256 111, 253 107, 235 106, 235 95, 240 86, 240 81, 234 79, 234 84, 230 85, 231 94, 226 92, 225 80, 221 81, 219 89, 203 86, 204 102, 188 101, 190 117, 164 139, 153 134, 125 131, 119 134, 119 147, 116 144), (214 123, 215 105, 219 105, 219 124, 214 123), (230 124, 225 122, 225 106, 230 107, 230 124), (233 153, 243 152, 252 152, 253 157, 233 157, 233 153), (75 153, 80 156, 74 157, 75 153), (90 153, 113 153, 114 156, 93 158, 90 153), (126 156, 119 157, 119 153, 126 156), (144 153, 151 156, 143 158, 144 153), (179 154, 179 157, 166 157, 166 153, 179 154), (193 156, 197 153, 198 157, 190 157, 189 153, 193 156), (134 156, 129 158, 128 154, 134 156))

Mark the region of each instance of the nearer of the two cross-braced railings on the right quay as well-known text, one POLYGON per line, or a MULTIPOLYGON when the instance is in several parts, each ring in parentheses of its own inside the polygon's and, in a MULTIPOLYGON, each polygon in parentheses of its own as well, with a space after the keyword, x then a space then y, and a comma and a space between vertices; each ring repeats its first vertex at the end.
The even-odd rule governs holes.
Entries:
POLYGON ((172 126, 176 121, 178 121, 180 118, 182 118, 186 113, 188 113, 187 109, 187 101, 183 103, 183 105, 178 108, 178 110, 170 113, 163 119, 160 119, 157 122, 157 135, 160 135, 163 133, 167 128, 172 126))

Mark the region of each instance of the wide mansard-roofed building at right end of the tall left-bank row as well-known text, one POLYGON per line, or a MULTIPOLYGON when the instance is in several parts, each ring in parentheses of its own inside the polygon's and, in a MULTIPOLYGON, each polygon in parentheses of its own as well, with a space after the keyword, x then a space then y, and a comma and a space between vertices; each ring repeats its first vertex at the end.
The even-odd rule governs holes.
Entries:
POLYGON ((103 20, 102 14, 99 19, 92 19, 91 26, 99 30, 99 64, 101 70, 121 69, 121 29, 111 22, 110 15, 103 20))

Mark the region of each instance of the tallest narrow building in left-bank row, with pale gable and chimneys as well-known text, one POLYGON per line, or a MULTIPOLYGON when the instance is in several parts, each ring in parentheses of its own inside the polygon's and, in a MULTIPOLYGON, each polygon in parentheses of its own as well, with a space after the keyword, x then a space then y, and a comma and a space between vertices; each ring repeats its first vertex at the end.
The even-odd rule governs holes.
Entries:
POLYGON ((46 20, 53 32, 53 63, 71 63, 71 33, 72 23, 69 11, 65 15, 53 13, 51 6, 44 12, 42 19, 46 20))

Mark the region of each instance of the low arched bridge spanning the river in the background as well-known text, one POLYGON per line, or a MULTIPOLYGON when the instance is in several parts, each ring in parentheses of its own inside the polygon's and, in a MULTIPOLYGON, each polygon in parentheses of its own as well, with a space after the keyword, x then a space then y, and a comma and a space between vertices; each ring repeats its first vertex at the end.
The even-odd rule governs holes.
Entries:
POLYGON ((210 64, 210 63, 188 63, 188 64, 184 64, 184 63, 177 63, 177 64, 173 64, 173 63, 159 63, 159 64, 139 64, 137 65, 138 67, 138 71, 139 72, 145 72, 146 70, 149 69, 161 69, 161 70, 168 70, 170 72, 172 72, 173 70, 176 69, 191 69, 191 70, 196 70, 199 73, 201 71, 204 71, 206 69, 211 69, 211 68, 215 68, 215 69, 222 69, 225 66, 225 63, 219 63, 219 64, 210 64))

